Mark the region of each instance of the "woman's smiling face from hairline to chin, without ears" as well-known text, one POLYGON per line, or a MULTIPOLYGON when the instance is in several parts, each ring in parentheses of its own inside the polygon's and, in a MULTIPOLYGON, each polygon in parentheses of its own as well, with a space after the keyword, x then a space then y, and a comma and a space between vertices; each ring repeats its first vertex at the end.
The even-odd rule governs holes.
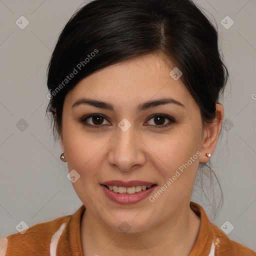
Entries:
POLYGON ((91 74, 65 97, 60 143, 80 175, 72 185, 88 214, 116 231, 123 221, 144 231, 189 205, 204 132, 173 67, 157 55, 137 57, 91 74), (164 98, 171 100, 145 104, 164 98))

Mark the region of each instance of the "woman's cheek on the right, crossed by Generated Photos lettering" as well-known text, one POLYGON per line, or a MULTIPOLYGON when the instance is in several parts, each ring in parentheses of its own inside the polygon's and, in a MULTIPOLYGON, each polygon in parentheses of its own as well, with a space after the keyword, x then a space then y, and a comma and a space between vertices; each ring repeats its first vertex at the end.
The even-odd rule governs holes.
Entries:
MULTIPOLYGON (((161 144, 157 143, 158 146, 154 146, 154 150, 152 150, 155 154, 152 154, 152 157, 159 159, 155 163, 155 168, 161 175, 159 187, 164 190, 161 199, 157 199, 159 205, 163 201, 178 205, 192 190, 198 169, 200 147, 198 132, 185 130, 186 132, 165 136, 161 140, 161 144)), ((153 146, 153 142, 156 142, 156 140, 150 141, 151 146, 153 146)), ((157 196, 158 194, 156 194, 157 196)))

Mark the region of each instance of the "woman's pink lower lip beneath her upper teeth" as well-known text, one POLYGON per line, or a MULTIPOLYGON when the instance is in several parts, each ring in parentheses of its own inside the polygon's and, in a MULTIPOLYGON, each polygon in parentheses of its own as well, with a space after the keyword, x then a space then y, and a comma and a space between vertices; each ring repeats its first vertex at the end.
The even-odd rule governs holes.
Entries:
POLYGON ((134 194, 121 194, 115 193, 112 190, 108 189, 104 185, 100 185, 105 193, 105 195, 112 201, 120 203, 120 204, 129 204, 136 203, 141 201, 145 197, 149 196, 149 194, 154 190, 156 185, 152 185, 150 188, 146 190, 141 190, 140 192, 134 194))

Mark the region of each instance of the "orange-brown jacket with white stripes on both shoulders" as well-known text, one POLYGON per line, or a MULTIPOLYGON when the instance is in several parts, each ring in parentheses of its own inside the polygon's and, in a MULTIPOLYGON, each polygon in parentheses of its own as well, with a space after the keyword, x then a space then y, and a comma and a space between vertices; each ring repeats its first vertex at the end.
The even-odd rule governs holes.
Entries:
MULTIPOLYGON (((200 228, 189 256, 256 256, 256 252, 230 240, 210 223, 203 208, 190 202, 200 217, 200 228)), ((85 206, 67 215, 29 227, 23 234, 14 233, 1 239, 0 256, 83 256, 80 241, 80 221, 85 206)))

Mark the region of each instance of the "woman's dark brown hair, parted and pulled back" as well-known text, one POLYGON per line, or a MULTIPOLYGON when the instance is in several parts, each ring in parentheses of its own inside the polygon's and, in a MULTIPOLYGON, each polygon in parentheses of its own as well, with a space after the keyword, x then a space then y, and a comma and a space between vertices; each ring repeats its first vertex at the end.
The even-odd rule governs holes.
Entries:
POLYGON ((228 71, 217 30, 191 0, 93 0, 79 8, 60 33, 48 65, 51 121, 61 131, 64 98, 78 81, 148 53, 166 56, 182 71, 180 79, 200 108, 202 124, 212 122, 228 71))

